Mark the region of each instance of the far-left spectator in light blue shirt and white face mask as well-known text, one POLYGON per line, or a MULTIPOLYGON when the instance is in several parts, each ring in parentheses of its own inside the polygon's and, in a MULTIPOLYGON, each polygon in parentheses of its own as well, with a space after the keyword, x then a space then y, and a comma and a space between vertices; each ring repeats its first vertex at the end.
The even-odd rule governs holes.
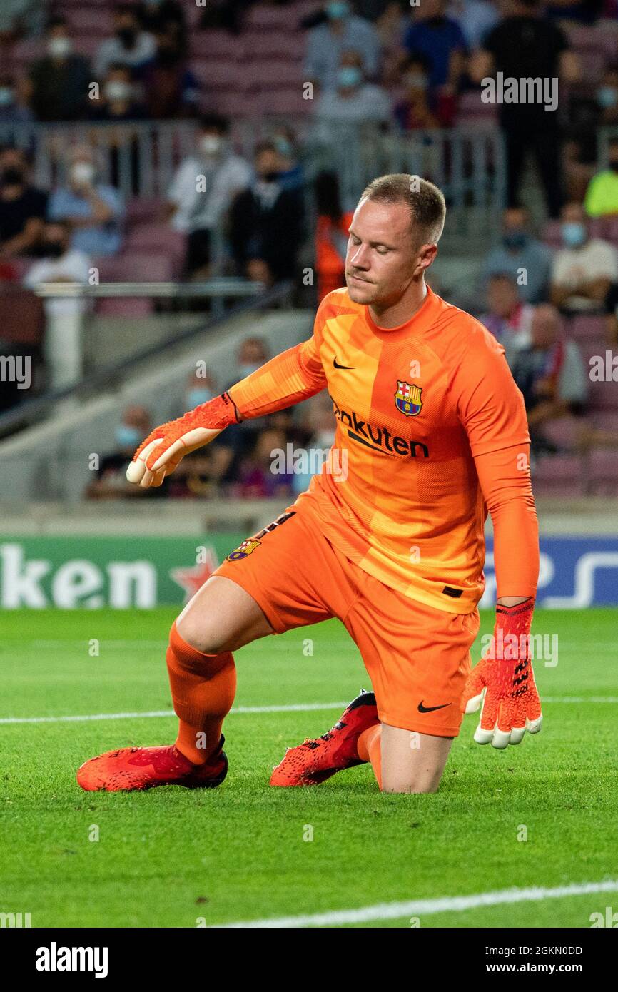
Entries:
POLYGON ((68 177, 50 197, 50 220, 68 220, 71 247, 88 255, 115 255, 122 245, 124 204, 113 186, 97 179, 92 150, 74 148, 68 157, 68 177))

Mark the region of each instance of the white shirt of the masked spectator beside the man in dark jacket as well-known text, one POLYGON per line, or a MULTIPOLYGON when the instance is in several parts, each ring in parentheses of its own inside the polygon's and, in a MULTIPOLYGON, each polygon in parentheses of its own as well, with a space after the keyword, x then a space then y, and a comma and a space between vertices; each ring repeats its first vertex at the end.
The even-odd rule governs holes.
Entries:
POLYGON ((184 234, 211 230, 216 226, 232 199, 251 184, 253 170, 239 155, 230 153, 220 161, 204 162, 191 155, 177 169, 168 199, 178 209, 172 226, 184 234), (205 191, 198 190, 198 177, 205 180, 205 191))

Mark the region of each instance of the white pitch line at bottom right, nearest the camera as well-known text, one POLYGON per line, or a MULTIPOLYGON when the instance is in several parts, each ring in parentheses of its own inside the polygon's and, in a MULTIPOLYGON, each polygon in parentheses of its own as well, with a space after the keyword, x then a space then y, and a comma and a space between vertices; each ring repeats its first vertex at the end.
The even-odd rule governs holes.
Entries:
POLYGON ((584 882, 561 885, 556 889, 503 889, 501 892, 480 892, 472 896, 443 896, 440 899, 415 899, 407 903, 377 903, 357 910, 334 910, 312 913, 302 917, 274 917, 268 920, 247 920, 243 923, 211 924, 209 930, 288 930, 297 927, 336 927, 344 924, 365 924, 375 920, 398 920, 401 917, 424 917, 434 913, 461 913, 482 906, 501 903, 540 902, 563 899, 566 896, 587 896, 599 892, 618 892, 618 879, 607 882, 584 882))

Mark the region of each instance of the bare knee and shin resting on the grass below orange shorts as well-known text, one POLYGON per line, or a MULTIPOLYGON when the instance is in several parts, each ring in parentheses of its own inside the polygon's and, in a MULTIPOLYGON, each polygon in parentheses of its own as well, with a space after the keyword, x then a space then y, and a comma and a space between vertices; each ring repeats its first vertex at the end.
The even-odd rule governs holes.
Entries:
POLYGON ((452 737, 433 737, 382 724, 382 792, 434 793, 452 737))

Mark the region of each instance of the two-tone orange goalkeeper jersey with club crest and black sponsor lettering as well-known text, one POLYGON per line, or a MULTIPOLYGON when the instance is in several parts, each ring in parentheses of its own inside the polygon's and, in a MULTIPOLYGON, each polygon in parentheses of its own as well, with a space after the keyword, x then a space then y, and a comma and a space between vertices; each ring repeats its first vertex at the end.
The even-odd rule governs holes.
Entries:
POLYGON ((527 451, 530 441, 503 347, 429 287, 414 316, 388 330, 342 289, 322 301, 312 337, 295 352, 229 396, 241 415, 247 406, 248 416, 267 412, 278 368, 289 375, 286 405, 327 387, 332 457, 297 504, 386 585, 447 612, 471 612, 484 587, 487 516, 474 457, 527 451), (299 358, 302 375, 292 371, 299 358))

